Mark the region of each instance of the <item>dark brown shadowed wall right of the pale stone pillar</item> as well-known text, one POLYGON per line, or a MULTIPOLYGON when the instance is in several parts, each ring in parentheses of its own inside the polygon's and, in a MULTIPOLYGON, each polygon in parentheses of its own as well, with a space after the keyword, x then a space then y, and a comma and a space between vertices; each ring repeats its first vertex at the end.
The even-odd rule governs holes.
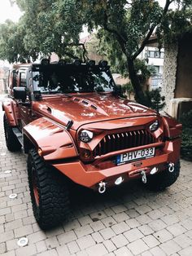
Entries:
POLYGON ((175 98, 192 98, 192 33, 179 41, 175 98))

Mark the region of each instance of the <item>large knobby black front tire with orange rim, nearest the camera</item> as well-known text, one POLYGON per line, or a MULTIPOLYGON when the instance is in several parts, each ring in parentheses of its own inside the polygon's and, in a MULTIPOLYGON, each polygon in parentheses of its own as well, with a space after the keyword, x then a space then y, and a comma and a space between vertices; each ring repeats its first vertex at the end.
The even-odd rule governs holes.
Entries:
POLYGON ((48 166, 35 149, 28 152, 28 184, 33 214, 43 230, 57 226, 70 214, 68 184, 63 178, 63 174, 48 166))

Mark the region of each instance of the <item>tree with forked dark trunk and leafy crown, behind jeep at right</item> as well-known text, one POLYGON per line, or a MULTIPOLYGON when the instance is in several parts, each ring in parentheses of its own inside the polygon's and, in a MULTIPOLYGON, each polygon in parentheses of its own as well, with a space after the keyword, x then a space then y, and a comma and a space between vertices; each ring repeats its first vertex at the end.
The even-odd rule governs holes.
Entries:
POLYGON ((111 62, 117 61, 120 68, 128 69, 137 101, 147 105, 149 99, 137 77, 134 60, 155 31, 162 42, 162 38, 173 40, 191 29, 192 1, 167 0, 160 7, 159 2, 152 0, 84 0, 82 6, 88 27, 99 29, 103 52, 107 52, 111 62), (173 3, 177 4, 174 11, 169 10, 173 3))

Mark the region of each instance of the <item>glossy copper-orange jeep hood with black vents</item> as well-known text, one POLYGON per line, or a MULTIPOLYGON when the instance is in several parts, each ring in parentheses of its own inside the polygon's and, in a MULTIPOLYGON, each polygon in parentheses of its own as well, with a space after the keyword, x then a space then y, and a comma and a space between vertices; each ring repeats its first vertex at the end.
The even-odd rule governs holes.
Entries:
POLYGON ((157 115, 150 108, 128 99, 121 99, 111 93, 81 93, 81 95, 73 94, 72 97, 46 95, 33 105, 33 109, 43 116, 59 121, 64 126, 72 120, 74 130, 98 121, 157 115))

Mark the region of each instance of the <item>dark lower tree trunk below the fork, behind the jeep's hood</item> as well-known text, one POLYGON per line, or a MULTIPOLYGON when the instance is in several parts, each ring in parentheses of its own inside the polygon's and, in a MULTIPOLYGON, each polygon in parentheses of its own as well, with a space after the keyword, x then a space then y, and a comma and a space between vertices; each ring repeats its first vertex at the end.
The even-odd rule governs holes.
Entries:
POLYGON ((148 100, 146 99, 146 94, 142 90, 142 85, 140 84, 139 79, 137 77, 133 60, 130 59, 128 56, 127 56, 127 64, 129 69, 129 79, 132 83, 133 90, 135 92, 135 99, 137 100, 138 103, 147 106, 148 100))

